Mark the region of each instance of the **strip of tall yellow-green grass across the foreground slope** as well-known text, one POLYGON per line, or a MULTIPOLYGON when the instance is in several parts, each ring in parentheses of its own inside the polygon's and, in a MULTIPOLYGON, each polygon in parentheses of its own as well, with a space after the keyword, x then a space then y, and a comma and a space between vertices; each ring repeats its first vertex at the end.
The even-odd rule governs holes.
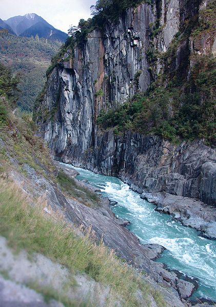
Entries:
POLYGON ((124 306, 139 306, 136 296, 141 291, 149 304, 152 295, 158 306, 165 306, 159 292, 151 288, 126 263, 117 259, 113 250, 103 242, 92 239, 90 230, 77 236, 63 218, 45 214, 46 203, 40 199, 31 206, 30 199, 12 182, 0 178, 0 234, 16 250, 41 253, 65 265, 74 274, 85 272, 111 289, 125 300, 124 306))

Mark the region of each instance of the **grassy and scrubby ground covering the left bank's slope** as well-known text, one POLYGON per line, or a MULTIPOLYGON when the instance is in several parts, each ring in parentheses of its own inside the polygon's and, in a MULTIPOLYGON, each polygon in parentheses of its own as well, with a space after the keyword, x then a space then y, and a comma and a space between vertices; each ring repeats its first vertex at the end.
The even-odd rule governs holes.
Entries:
MULTIPOLYGON (((42 253, 64 264, 71 274, 85 272, 96 281, 108 284, 114 293, 125 299, 125 306, 139 306, 135 295, 138 290, 142 292, 146 305, 149 295, 152 295, 158 306, 165 306, 161 294, 117 259, 113 251, 103 243, 96 245, 88 234, 77 237, 62 217, 58 217, 57 221, 56 215, 54 219, 47 218, 43 213, 45 204, 31 198, 31 195, 27 198, 8 179, 14 168, 26 175, 23 166, 27 163, 53 185, 60 183, 68 196, 75 199, 89 197, 91 202, 98 201, 93 192, 79 188, 65 174, 58 173, 56 178, 48 149, 33 134, 30 116, 15 116, 6 98, 0 97, 0 105, 7 106, 4 109, 6 112, 0 112, 0 138, 4 142, 3 145, 0 139, 0 235, 6 237, 14 248, 42 253), (32 202, 35 206, 29 205, 32 202)), ((43 289, 38 291, 46 295, 43 289)), ((73 302, 67 301, 65 305, 73 306, 73 302)))

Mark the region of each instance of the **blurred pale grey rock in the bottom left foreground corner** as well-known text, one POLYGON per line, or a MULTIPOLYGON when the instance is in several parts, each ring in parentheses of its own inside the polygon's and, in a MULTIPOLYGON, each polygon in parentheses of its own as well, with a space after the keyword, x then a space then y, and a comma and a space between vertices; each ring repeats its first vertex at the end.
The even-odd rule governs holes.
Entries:
POLYGON ((85 273, 74 274, 72 283, 68 268, 38 253, 30 257, 23 250, 14 255, 7 246, 7 240, 1 236, 0 250, 1 273, 7 273, 7 278, 0 273, 1 306, 64 307, 64 304, 55 299, 45 300, 42 289, 46 288, 50 289, 50 297, 64 296, 73 301, 74 305, 80 304, 83 300, 101 307, 122 305, 121 299, 117 300, 112 295, 109 286, 96 282, 85 273), (52 291, 56 293, 55 296, 52 291))

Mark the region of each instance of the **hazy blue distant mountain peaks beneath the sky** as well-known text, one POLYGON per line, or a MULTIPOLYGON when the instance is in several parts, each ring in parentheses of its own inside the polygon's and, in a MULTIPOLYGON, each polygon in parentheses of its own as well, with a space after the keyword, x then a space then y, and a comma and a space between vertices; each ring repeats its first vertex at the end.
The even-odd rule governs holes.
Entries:
POLYGON ((65 32, 55 29, 44 18, 35 13, 14 16, 6 21, 0 19, 0 28, 8 29, 9 33, 17 36, 31 37, 38 34, 39 37, 60 40, 60 42, 65 42, 68 37, 65 32))

